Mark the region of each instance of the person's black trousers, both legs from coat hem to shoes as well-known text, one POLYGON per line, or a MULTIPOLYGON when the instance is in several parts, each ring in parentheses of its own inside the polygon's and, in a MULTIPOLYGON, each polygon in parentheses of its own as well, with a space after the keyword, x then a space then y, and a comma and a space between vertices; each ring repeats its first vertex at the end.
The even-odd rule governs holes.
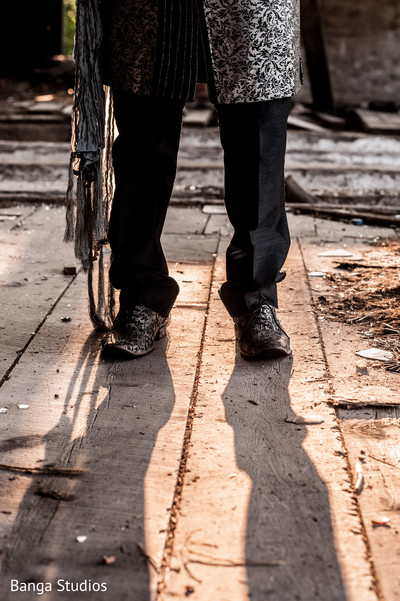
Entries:
MULTIPOLYGON (((235 317, 263 299, 277 306, 276 284, 290 237, 284 208, 284 157, 290 98, 217 106, 225 163, 225 204, 234 228, 220 295, 235 317)), ((176 174, 183 105, 114 92, 119 131, 109 240, 110 280, 121 302, 168 315, 178 284, 160 243, 176 174)))

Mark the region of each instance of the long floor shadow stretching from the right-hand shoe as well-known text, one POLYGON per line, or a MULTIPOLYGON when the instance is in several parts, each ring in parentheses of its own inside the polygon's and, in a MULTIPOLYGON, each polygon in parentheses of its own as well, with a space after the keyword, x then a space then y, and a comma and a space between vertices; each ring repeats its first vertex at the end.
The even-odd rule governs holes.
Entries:
MULTIPOLYGON (((223 395, 236 461, 252 480, 246 563, 252 601, 344 601, 328 492, 302 448, 304 426, 287 423, 292 360, 240 357, 223 395)), ((318 426, 313 426, 318 427, 318 426)))

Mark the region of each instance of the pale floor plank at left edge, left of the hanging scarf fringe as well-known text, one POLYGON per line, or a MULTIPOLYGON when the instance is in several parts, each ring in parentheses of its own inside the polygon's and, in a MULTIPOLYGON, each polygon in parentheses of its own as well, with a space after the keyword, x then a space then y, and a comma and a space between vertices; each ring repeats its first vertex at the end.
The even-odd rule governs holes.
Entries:
POLYGON ((41 207, 1 234, 0 302, 7 319, 0 330, 0 379, 71 283, 64 263, 77 263, 63 243, 64 228, 64 209, 41 207))

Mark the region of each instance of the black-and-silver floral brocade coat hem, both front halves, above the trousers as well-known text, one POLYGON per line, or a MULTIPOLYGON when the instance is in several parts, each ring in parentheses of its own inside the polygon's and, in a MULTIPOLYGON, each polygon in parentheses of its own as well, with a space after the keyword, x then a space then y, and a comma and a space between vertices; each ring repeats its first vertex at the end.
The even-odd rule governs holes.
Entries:
POLYGON ((300 89, 299 0, 100 1, 106 83, 115 88, 190 100, 204 48, 216 102, 261 102, 300 89))

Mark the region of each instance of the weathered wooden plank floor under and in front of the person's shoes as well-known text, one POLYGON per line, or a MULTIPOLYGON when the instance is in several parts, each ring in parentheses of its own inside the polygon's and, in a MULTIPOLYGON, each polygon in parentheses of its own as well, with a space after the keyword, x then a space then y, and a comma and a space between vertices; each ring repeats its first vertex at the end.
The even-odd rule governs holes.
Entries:
POLYGON ((321 245, 365 246, 352 226, 290 218, 280 318, 294 355, 257 363, 238 356, 217 293, 224 216, 171 208, 164 244, 181 293, 169 335, 125 362, 101 360, 85 276, 62 274, 62 210, 25 208, 3 228, 2 600, 38 598, 11 579, 107 586, 53 584, 46 601, 398 599, 398 409, 329 403, 354 380, 357 334, 338 353, 307 276, 321 245), (286 421, 308 414, 323 422, 286 421), (373 527, 382 513, 390 526, 373 527))

